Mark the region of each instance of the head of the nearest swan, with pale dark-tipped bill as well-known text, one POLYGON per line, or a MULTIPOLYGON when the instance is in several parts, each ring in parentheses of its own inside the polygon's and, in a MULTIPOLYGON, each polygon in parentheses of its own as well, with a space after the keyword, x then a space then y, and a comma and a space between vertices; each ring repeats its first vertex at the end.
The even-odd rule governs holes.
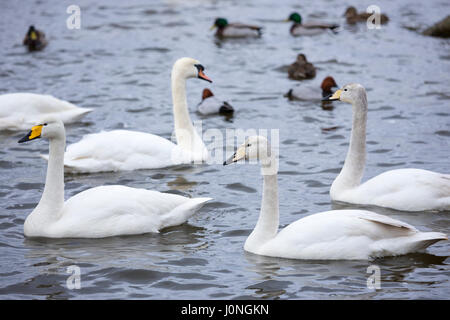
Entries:
POLYGON ((270 159, 270 156, 269 141, 263 136, 251 136, 237 148, 236 152, 223 165, 238 162, 239 160, 260 160, 264 162, 270 159))

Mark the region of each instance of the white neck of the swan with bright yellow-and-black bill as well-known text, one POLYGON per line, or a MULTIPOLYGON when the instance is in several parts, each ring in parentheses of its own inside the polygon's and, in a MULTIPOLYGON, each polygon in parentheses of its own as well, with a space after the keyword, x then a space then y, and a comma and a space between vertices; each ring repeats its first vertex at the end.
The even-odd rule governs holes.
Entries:
POLYGON ((38 207, 45 207, 43 212, 59 217, 64 206, 64 150, 65 137, 50 139, 47 177, 44 192, 38 207))

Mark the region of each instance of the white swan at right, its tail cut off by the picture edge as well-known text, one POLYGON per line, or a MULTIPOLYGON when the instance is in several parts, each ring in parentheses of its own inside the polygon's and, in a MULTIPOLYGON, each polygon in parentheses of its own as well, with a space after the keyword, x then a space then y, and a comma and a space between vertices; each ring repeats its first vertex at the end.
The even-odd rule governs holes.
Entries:
POLYGON ((366 90, 359 83, 349 83, 325 100, 349 103, 353 110, 347 157, 330 188, 333 201, 400 211, 450 210, 450 174, 405 168, 383 172, 361 183, 366 164, 366 90))

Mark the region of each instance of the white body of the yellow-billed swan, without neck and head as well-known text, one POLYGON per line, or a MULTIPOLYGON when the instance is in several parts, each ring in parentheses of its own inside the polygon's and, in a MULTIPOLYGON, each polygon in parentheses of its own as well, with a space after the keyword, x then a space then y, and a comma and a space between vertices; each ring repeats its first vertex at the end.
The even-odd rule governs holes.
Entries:
POLYGON ((68 199, 55 213, 42 218, 38 206, 26 219, 27 237, 104 238, 155 233, 186 222, 210 198, 186 198, 120 185, 100 186, 68 199), (49 221, 50 220, 50 221, 49 221))

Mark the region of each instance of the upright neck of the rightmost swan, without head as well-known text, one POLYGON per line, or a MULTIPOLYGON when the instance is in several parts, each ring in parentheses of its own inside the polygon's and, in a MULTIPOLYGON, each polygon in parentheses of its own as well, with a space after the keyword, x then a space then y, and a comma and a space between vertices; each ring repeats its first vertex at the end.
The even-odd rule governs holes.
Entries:
POLYGON ((360 185, 366 164, 367 98, 365 94, 352 105, 353 120, 350 146, 344 167, 333 187, 350 189, 360 185))

